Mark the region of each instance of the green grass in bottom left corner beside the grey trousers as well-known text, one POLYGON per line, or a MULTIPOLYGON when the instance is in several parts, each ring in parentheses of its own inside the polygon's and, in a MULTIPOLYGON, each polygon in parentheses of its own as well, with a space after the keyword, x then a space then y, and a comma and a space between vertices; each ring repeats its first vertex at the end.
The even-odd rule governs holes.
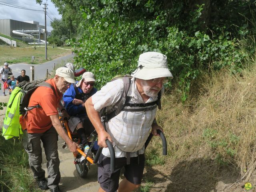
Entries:
MULTIPOLYGON (((2 134, 2 131, 1 131, 2 134)), ((19 139, 0 137, 0 191, 40 192, 30 171, 28 156, 19 139)))

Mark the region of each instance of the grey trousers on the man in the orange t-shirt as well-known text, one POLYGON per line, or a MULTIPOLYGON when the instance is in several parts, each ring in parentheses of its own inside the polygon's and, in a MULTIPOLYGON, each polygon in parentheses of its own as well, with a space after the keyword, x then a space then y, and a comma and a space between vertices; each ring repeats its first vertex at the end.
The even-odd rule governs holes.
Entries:
POLYGON ((48 187, 56 188, 60 182, 60 160, 57 145, 58 134, 55 128, 51 127, 44 133, 27 133, 26 130, 23 132, 22 144, 28 153, 28 161, 34 178, 36 180, 45 178, 45 171, 42 169, 42 141, 47 160, 48 187))

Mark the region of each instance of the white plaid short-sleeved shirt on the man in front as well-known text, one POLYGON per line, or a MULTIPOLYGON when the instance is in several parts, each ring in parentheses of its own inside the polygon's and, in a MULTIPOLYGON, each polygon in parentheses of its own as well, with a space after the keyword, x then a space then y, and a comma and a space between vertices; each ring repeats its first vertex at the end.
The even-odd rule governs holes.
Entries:
MULTIPOLYGON (((129 103, 144 103, 140 96, 137 86, 135 84, 135 78, 132 78, 132 83, 128 96, 131 96, 129 103)), ((94 109, 98 112, 104 107, 111 109, 116 102, 121 98, 124 90, 124 83, 122 79, 118 79, 107 83, 92 96, 92 103, 94 109)), ((164 92, 164 87, 161 90, 164 92)), ((156 97, 150 97, 145 103, 154 102, 156 97)), ((155 104, 156 105, 156 104, 155 104)), ((148 106, 149 108, 152 106, 148 106)), ((140 108, 140 107, 128 107, 124 108, 140 108)), ((151 125, 156 116, 157 107, 153 110, 129 112, 121 111, 117 116, 110 119, 106 123, 106 129, 110 134, 114 142, 114 150, 116 157, 126 157, 126 152, 131 152, 130 157, 137 156, 144 153, 144 144, 151 132, 151 125)), ((103 148, 102 154, 110 157, 108 148, 103 148)))

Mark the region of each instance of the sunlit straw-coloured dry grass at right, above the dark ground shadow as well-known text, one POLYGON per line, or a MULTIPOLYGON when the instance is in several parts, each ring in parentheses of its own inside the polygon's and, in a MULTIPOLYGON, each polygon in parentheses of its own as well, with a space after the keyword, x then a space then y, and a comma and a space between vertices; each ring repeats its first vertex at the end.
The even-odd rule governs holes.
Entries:
MULTIPOLYGON (((157 119, 168 143, 166 173, 182 161, 203 158, 232 164, 250 179, 256 166, 255 74, 256 66, 240 76, 228 70, 205 75, 186 104, 172 92, 164 96, 157 119)), ((161 151, 158 139, 152 144, 161 151)))

